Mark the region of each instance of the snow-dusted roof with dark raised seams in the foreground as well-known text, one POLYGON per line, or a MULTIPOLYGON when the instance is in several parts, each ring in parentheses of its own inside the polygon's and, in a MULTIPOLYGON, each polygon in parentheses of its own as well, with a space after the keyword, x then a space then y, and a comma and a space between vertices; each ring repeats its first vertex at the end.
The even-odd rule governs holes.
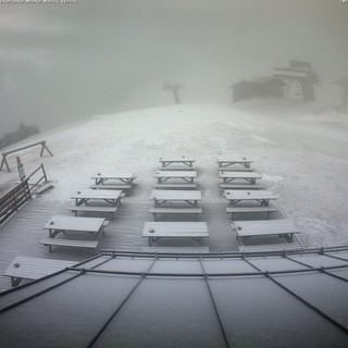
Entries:
POLYGON ((0 295, 1 347, 347 347, 348 247, 104 251, 0 295))

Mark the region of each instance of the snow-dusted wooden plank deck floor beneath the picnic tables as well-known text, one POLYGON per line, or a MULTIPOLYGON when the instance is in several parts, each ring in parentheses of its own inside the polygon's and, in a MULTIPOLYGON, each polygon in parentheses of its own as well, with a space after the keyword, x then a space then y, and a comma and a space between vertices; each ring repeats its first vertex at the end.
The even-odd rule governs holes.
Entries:
MULTIPOLYGON (((50 253, 47 247, 40 245, 41 238, 48 237, 48 232, 42 229, 42 226, 54 214, 73 215, 67 211, 71 204, 71 201, 47 201, 45 196, 36 198, 0 227, 0 291, 11 288, 10 278, 2 276, 2 274, 16 256, 72 261, 83 261, 94 256, 91 251, 71 248, 53 248, 53 252, 50 253)), ((141 232, 144 223, 153 220, 152 214, 148 212, 152 207, 153 202, 149 199, 125 197, 114 220, 105 227, 105 236, 99 238, 99 248, 139 251, 142 247, 147 247, 148 240, 141 237, 141 232)), ((238 251, 237 241, 231 228, 232 221, 226 213, 227 202, 225 199, 223 197, 209 199, 201 202, 199 207, 203 210, 199 221, 206 221, 209 231, 209 238, 204 239, 203 245, 208 246, 210 251, 238 251)), ((101 216, 90 213, 80 213, 79 215, 101 216)), ((109 217, 109 214, 104 216, 109 217)), ((246 219, 248 217, 246 216, 246 219)), ((160 214, 158 221, 195 221, 195 216, 160 214)), ((86 234, 80 236, 66 234, 65 237, 86 239, 86 234)), ((187 239, 159 239, 154 246, 179 248, 182 246, 196 247, 198 244, 187 239)))

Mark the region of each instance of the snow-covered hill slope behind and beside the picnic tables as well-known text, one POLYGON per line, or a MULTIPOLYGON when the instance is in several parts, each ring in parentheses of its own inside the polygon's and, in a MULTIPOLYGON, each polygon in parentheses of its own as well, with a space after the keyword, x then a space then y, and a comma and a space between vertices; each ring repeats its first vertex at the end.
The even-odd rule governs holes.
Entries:
MULTIPOLYGON (((178 104, 115 114, 41 133, 12 146, 47 140, 54 157, 39 158, 39 148, 9 157, 13 171, 0 173, 0 187, 17 181, 15 156, 26 173, 41 162, 54 188, 49 201, 67 201, 92 184, 98 172, 137 173, 137 191, 148 200, 159 158, 196 159, 203 200, 223 198, 217 189, 217 156, 254 161, 262 182, 279 198, 283 213, 302 231, 308 247, 348 244, 348 115, 315 104, 254 99, 236 104, 178 104), (2 184, 2 185, 1 185, 2 184)), ((9 148, 10 149, 10 148, 9 148)))

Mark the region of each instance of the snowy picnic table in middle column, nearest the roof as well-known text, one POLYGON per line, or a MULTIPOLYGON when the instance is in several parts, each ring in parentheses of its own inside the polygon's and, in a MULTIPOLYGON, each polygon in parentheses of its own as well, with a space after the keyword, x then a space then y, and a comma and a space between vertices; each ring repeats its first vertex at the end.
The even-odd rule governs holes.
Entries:
POLYGON ((146 222, 142 237, 149 238, 149 247, 159 238, 192 238, 202 245, 209 234, 206 222, 146 222))

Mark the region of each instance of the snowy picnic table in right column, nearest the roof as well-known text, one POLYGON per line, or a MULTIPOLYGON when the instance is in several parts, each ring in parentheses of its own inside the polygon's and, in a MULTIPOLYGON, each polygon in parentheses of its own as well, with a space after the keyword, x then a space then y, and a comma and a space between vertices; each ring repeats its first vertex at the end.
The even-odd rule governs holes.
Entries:
POLYGON ((241 241, 250 237, 278 235, 291 243, 294 235, 299 234, 299 229, 290 220, 235 221, 232 228, 241 241))

